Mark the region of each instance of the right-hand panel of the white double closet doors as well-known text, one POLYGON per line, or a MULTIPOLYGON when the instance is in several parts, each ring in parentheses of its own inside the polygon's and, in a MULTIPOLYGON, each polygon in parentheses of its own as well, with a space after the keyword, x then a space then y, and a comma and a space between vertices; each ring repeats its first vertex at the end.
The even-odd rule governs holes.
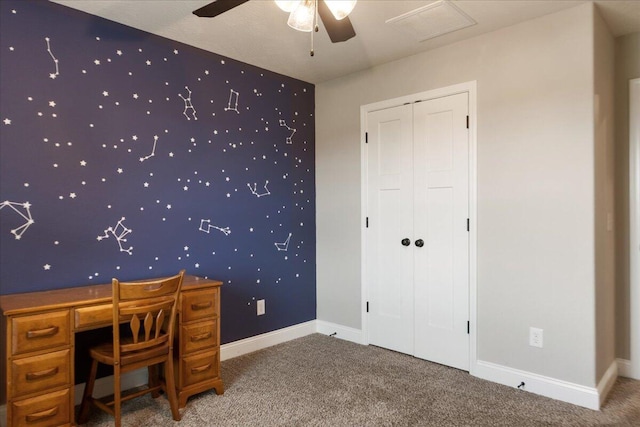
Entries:
POLYGON ((414 355, 469 370, 466 93, 414 104, 414 355))

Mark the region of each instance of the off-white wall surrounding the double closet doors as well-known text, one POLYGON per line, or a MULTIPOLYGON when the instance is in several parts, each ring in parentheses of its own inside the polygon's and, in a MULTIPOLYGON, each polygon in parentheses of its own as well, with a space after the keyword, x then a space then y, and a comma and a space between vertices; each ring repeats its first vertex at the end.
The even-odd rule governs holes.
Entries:
POLYGON ((319 320, 362 327, 359 107, 477 80, 478 357, 595 385, 593 13, 316 86, 319 320))

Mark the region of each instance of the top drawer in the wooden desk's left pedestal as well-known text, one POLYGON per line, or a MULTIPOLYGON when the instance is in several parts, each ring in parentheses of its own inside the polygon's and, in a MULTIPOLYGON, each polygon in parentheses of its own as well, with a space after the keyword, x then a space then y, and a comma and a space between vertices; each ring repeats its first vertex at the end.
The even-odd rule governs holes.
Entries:
POLYGON ((69 311, 34 314, 11 319, 13 355, 69 345, 69 311))

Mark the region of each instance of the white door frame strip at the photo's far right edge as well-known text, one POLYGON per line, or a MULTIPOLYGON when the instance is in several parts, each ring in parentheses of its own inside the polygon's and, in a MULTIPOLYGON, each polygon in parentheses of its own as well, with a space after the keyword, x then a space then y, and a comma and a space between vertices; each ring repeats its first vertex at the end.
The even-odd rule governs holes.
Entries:
POLYGON ((640 78, 629 80, 629 285, 631 377, 640 379, 640 78))

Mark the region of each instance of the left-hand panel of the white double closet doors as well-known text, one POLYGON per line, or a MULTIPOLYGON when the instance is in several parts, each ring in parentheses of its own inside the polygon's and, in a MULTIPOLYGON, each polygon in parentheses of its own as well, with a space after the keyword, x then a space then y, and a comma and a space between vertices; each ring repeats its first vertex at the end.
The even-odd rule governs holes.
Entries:
POLYGON ((411 354, 413 256, 402 245, 413 235, 411 105, 369 113, 367 123, 369 342, 411 354))

